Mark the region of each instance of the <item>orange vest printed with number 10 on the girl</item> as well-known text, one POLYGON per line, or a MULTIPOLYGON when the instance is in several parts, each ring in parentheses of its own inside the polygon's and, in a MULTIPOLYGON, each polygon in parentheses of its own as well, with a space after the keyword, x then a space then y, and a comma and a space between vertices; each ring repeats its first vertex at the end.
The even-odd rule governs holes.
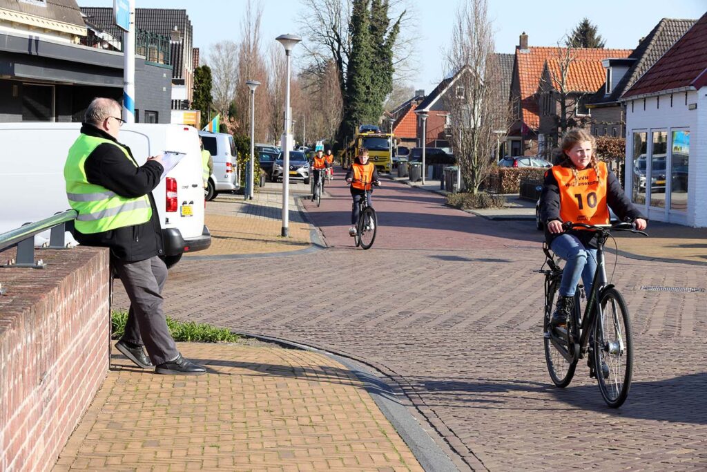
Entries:
POLYGON ((584 224, 609 224, 607 207, 607 165, 598 165, 601 175, 593 167, 577 171, 554 166, 551 171, 560 190, 560 218, 562 221, 584 224))

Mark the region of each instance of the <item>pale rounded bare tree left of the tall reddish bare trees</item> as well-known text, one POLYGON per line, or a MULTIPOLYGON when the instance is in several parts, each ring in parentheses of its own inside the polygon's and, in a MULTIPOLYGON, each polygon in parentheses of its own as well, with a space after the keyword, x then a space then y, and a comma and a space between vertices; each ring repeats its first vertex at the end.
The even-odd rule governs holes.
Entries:
POLYGON ((233 41, 217 42, 211 45, 209 59, 213 79, 212 102, 221 116, 228 115, 228 106, 235 98, 235 76, 238 67, 238 45, 233 41))

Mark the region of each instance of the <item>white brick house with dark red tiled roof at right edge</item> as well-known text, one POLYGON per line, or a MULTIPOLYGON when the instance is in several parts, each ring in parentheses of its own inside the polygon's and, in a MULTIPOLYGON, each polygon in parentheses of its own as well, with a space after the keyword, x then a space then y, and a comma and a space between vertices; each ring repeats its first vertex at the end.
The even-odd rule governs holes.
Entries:
POLYGON ((650 219, 707 226, 707 13, 619 101, 626 195, 650 219))

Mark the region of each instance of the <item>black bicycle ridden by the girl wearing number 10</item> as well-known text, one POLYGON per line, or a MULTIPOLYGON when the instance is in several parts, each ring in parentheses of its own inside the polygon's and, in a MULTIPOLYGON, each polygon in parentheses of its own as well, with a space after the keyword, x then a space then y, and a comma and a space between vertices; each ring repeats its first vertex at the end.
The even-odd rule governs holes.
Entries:
POLYGON ((559 387, 566 387, 572 381, 579 359, 588 357, 590 376, 595 376, 604 401, 612 408, 618 408, 629 395, 633 372, 633 343, 629 309, 621 293, 613 284, 607 284, 604 264, 604 243, 611 237, 611 231, 630 231, 633 224, 589 225, 565 223, 563 229, 583 228, 597 232, 597 272, 588 294, 584 316, 580 311, 580 293, 583 285, 575 292, 573 309, 565 326, 551 326, 552 312, 559 296, 562 269, 546 244, 543 251, 547 257, 543 267, 537 272, 545 275, 545 313, 543 321, 545 361, 550 378, 559 387), (599 301, 597 303, 597 300, 599 301))

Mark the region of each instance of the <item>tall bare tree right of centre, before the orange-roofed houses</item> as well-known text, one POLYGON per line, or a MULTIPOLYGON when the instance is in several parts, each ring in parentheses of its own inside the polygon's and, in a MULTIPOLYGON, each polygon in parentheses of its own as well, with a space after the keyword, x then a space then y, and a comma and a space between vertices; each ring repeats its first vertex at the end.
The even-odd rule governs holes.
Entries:
POLYGON ((509 118, 486 0, 470 0, 457 10, 447 62, 455 72, 444 99, 450 141, 467 188, 476 194, 491 171, 495 132, 505 132, 509 118))

